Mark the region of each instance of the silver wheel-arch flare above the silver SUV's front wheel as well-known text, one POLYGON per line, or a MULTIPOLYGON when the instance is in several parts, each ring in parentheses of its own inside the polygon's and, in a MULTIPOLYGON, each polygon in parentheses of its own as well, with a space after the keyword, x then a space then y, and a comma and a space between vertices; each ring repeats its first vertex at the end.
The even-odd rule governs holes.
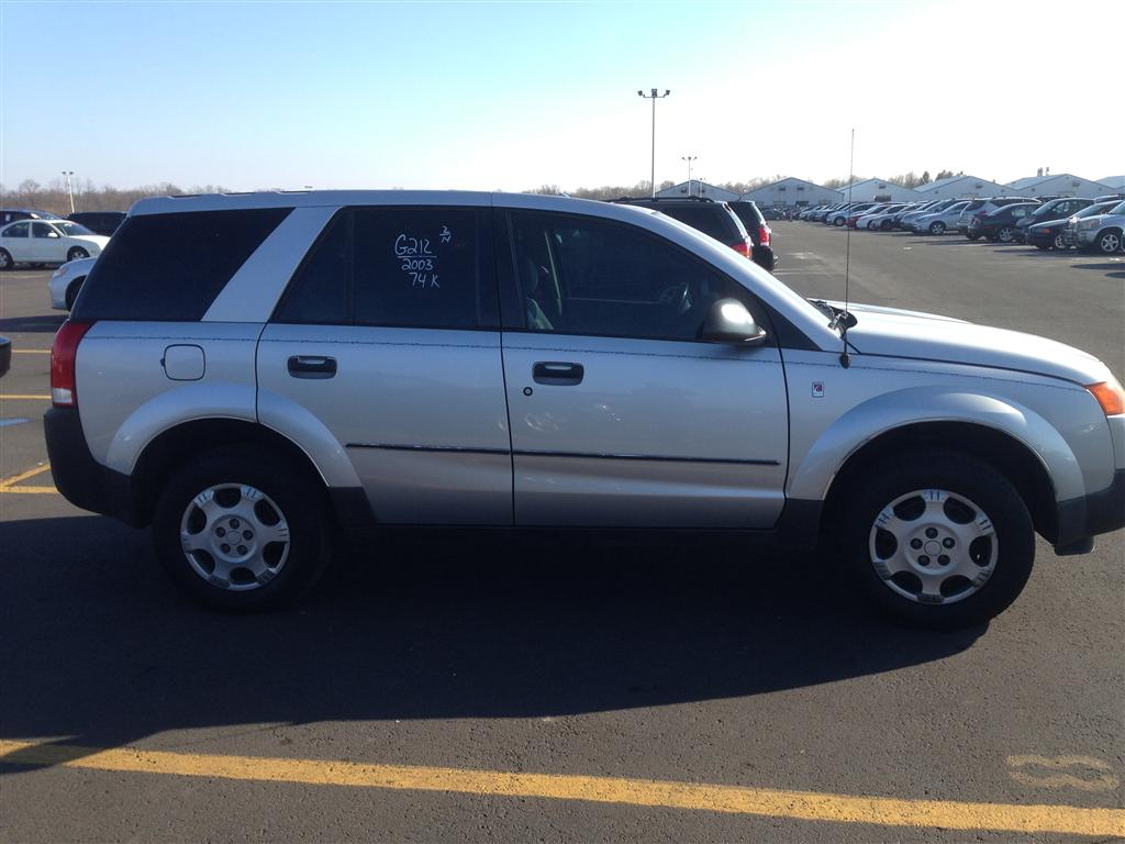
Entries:
POLYGON ((1086 494, 1070 446, 1035 412, 998 395, 911 387, 862 402, 832 422, 796 464, 789 497, 824 500, 848 457, 888 431, 924 422, 964 422, 1006 433, 1038 457, 1059 501, 1086 494))

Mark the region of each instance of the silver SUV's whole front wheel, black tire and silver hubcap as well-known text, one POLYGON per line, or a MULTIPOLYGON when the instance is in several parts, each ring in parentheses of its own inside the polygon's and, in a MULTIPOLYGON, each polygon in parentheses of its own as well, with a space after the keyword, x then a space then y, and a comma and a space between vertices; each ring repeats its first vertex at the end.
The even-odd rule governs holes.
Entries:
POLYGON ((948 451, 888 460, 847 491, 846 573, 881 612, 928 627, 988 621, 1023 591, 1032 518, 991 466, 948 451))

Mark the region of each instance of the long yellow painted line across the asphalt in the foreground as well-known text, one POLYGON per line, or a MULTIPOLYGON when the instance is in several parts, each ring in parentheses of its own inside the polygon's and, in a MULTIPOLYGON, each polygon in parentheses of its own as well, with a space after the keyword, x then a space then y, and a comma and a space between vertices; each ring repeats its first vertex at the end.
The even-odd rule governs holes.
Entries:
POLYGON ((904 800, 612 776, 472 771, 136 748, 100 749, 8 740, 0 740, 0 763, 312 785, 580 800, 878 826, 1100 836, 1125 834, 1125 810, 1087 809, 1078 806, 904 800))

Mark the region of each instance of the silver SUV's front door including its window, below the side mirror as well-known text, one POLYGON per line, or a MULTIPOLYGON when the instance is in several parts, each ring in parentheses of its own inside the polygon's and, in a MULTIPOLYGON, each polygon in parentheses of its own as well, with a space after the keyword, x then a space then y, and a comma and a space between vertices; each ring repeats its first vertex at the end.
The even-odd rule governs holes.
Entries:
POLYGON ((714 300, 739 298, 758 320, 760 305, 634 226, 530 212, 508 219, 498 261, 510 263, 503 347, 516 523, 772 527, 789 437, 780 352, 698 340, 714 300))

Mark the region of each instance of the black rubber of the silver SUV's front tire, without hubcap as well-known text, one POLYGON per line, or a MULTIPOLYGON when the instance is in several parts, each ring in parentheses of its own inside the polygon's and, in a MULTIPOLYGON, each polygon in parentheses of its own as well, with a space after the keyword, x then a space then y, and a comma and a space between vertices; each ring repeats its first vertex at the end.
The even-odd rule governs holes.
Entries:
MULTIPOLYGON (((952 451, 928 451, 909 458, 899 455, 865 472, 862 482, 845 491, 845 495, 847 504, 836 530, 844 556, 843 573, 880 613, 939 629, 980 625, 1007 609, 1030 576, 1035 562, 1032 517, 1015 486, 984 463, 952 451), (872 560, 880 514, 900 496, 930 490, 943 490, 953 499, 974 503, 979 508, 976 515, 990 519, 994 530, 992 574, 966 596, 958 600, 956 594, 950 595, 944 603, 920 602, 900 594, 896 589, 901 585, 888 585, 896 581, 893 577, 884 581, 872 560)), ((914 576, 909 572, 901 574, 907 578, 914 576)))

